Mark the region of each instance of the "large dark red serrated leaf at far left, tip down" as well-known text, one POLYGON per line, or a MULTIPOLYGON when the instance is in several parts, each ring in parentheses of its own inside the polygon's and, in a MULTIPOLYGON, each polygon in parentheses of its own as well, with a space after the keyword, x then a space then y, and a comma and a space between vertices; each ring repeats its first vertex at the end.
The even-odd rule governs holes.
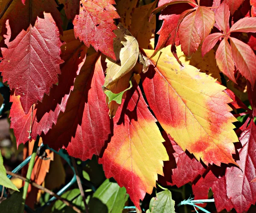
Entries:
POLYGON ((42 101, 44 93, 49 94, 52 84, 58 82, 62 63, 59 32, 48 13, 44 13, 44 19, 38 17, 35 26, 30 25, 12 41, 9 22, 6 24, 8 48, 1 48, 4 59, 0 71, 3 81, 8 81, 15 95, 20 95, 27 114, 32 104, 42 101))

